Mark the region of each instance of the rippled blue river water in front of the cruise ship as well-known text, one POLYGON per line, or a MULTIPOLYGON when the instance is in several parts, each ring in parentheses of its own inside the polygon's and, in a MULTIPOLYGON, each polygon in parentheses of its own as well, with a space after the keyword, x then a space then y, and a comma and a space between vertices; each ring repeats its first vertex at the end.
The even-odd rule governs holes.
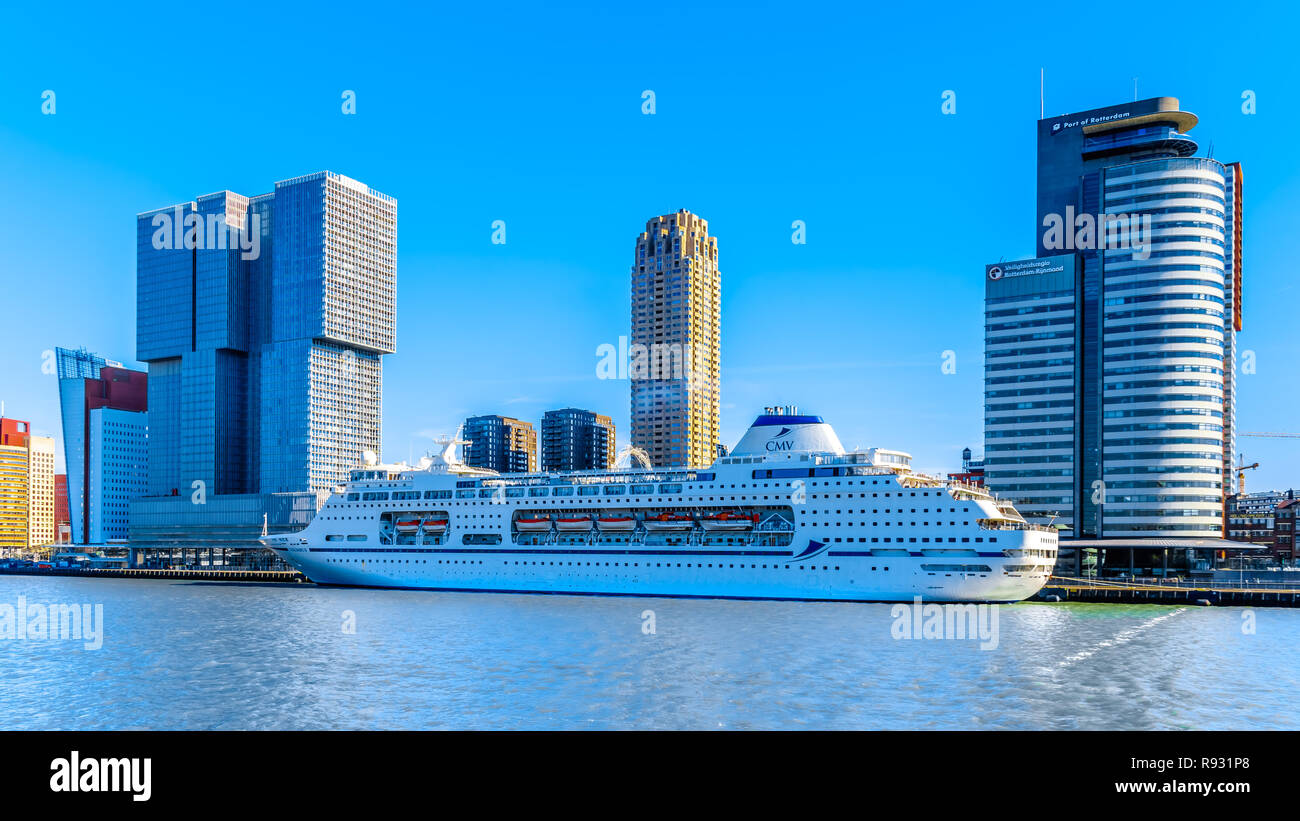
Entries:
POLYGON ((1017 604, 980 650, 896 639, 888 604, 0 577, 20 595, 103 604, 104 639, 0 639, 4 729, 1300 729, 1295 609, 1017 604))

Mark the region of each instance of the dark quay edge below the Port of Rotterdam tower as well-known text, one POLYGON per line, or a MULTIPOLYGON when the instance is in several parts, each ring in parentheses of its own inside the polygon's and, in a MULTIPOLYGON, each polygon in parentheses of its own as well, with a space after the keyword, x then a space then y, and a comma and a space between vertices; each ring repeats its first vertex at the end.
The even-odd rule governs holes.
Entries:
POLYGON ((1030 601, 1300 607, 1300 579, 1284 582, 1102 581, 1053 575, 1030 601))

